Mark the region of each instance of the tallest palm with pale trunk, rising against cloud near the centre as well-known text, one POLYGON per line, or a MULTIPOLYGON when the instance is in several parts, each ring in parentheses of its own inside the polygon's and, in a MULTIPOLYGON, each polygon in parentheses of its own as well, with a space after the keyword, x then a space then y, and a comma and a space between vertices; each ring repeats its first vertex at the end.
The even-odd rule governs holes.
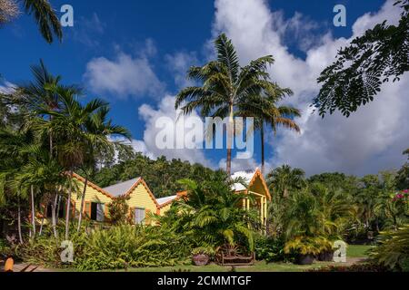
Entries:
POLYGON ((231 172, 232 144, 234 135, 234 111, 251 95, 272 90, 265 67, 273 63, 266 55, 241 67, 234 45, 225 34, 214 40, 216 60, 204 66, 192 66, 187 77, 201 86, 183 89, 176 96, 175 109, 184 114, 200 109, 203 117, 228 117, 226 171, 231 172))

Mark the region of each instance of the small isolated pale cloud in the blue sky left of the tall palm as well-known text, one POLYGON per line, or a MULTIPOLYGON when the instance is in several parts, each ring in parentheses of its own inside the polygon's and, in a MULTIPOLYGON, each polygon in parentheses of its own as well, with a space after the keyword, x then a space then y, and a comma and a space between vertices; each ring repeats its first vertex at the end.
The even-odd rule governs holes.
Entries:
POLYGON ((93 92, 109 93, 117 98, 157 97, 164 92, 164 84, 158 80, 145 56, 133 57, 121 51, 116 53, 114 60, 92 59, 86 64, 84 77, 93 92))

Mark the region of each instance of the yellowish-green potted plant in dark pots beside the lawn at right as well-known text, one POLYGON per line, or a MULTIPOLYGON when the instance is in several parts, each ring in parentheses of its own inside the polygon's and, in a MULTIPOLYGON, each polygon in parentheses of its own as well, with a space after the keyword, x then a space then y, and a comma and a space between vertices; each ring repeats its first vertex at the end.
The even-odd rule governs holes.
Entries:
POLYGON ((314 256, 319 253, 314 237, 294 237, 285 243, 284 253, 295 254, 295 263, 298 265, 311 265, 314 256))

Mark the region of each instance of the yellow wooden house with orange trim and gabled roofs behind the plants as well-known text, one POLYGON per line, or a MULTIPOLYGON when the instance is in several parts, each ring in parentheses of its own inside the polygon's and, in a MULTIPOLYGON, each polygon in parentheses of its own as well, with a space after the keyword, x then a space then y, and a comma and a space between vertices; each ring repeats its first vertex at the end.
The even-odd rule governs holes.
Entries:
MULTIPOLYGON (((260 169, 253 171, 238 171, 232 175, 232 178, 242 178, 245 181, 245 186, 241 183, 236 183, 233 189, 237 193, 252 195, 255 201, 250 202, 250 199, 243 200, 244 208, 256 208, 260 215, 260 221, 265 225, 267 217, 267 200, 271 199, 270 192, 265 183, 263 174, 260 169)), ((71 216, 77 218, 81 209, 81 195, 84 190, 85 179, 78 174, 74 174, 76 190, 72 193, 71 198, 71 216)), ((85 207, 83 215, 86 219, 95 220, 98 222, 109 222, 109 204, 118 197, 127 197, 129 206, 129 218, 135 224, 144 223, 152 224, 149 216, 150 213, 156 215, 164 215, 165 212, 172 206, 172 203, 183 196, 186 192, 179 192, 174 196, 165 198, 155 198, 152 191, 147 186, 145 180, 141 177, 129 179, 119 182, 115 185, 100 188, 93 182, 87 182, 85 190, 85 207)), ((61 205, 60 218, 63 218, 65 205, 61 205)), ((48 211, 48 210, 47 210, 48 211)), ((47 214, 47 218, 51 215, 47 214)))

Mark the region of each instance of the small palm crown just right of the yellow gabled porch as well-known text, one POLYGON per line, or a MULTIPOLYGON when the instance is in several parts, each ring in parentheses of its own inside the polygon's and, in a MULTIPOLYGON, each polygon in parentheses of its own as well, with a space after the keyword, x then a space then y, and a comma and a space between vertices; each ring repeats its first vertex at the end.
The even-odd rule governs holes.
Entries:
POLYGON ((275 193, 287 198, 289 190, 302 189, 305 185, 304 170, 282 165, 267 174, 267 183, 275 193))

